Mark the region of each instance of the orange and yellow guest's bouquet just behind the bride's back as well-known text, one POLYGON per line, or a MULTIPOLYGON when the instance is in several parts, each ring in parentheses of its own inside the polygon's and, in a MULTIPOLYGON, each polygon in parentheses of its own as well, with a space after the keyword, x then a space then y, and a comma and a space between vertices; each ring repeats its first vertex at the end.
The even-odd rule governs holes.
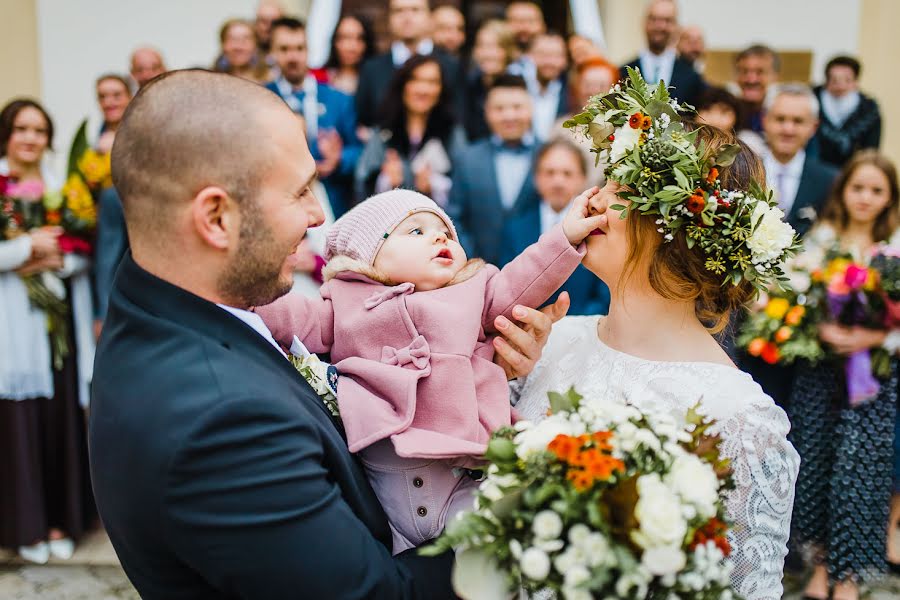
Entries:
POLYGON ((761 310, 741 325, 737 343, 770 365, 789 365, 797 359, 816 362, 825 355, 816 322, 800 295, 765 299, 761 310))

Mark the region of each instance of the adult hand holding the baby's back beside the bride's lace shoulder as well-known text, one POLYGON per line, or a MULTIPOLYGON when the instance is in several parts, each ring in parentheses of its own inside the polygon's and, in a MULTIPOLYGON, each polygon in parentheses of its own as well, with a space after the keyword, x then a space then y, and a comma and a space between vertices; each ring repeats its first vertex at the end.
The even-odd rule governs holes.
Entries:
POLYGON ((510 322, 506 317, 497 317, 494 326, 502 337, 494 338, 494 362, 503 367, 507 379, 524 377, 531 373, 541 358, 541 352, 550 336, 553 324, 569 312, 569 294, 563 292, 559 298, 541 310, 525 306, 513 309, 513 316, 522 324, 510 322))

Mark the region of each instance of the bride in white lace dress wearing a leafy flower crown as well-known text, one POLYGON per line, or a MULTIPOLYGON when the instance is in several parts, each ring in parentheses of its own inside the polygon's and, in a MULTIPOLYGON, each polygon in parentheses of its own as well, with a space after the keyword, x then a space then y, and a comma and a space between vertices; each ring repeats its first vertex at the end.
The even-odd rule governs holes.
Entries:
POLYGON ((759 159, 733 134, 701 126, 685 135, 693 127, 685 109, 670 110, 668 94, 634 72, 617 88, 569 122, 608 158, 607 185, 592 203, 608 225, 588 238, 583 264, 609 285, 609 315, 558 323, 516 408, 541 420, 548 392, 570 386, 681 421, 699 405, 734 473, 731 585, 748 600, 775 600, 799 458, 785 413, 711 334, 780 273, 794 233, 764 199, 759 159), (734 234, 732 219, 749 237, 734 234))

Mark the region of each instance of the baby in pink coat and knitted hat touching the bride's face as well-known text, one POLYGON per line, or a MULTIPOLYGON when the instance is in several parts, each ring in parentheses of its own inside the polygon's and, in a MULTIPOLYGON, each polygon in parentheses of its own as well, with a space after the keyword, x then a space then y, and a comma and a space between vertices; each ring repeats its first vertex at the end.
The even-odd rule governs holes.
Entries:
POLYGON ((328 232, 320 299, 289 294, 257 308, 275 339, 331 353, 351 452, 384 506, 394 553, 437 536, 472 508, 491 432, 511 422, 495 365, 494 319, 538 307, 584 256, 592 188, 563 222, 503 270, 467 260, 450 218, 410 190, 372 196, 328 232))

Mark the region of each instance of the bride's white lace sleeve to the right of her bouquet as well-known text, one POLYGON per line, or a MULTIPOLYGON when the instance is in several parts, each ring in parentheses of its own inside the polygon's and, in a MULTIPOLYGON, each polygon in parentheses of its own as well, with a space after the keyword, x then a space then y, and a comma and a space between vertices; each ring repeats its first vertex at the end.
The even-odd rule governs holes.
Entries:
POLYGON ((784 411, 758 395, 721 432, 736 484, 727 498, 731 580, 746 600, 779 600, 800 457, 787 440, 784 411))

